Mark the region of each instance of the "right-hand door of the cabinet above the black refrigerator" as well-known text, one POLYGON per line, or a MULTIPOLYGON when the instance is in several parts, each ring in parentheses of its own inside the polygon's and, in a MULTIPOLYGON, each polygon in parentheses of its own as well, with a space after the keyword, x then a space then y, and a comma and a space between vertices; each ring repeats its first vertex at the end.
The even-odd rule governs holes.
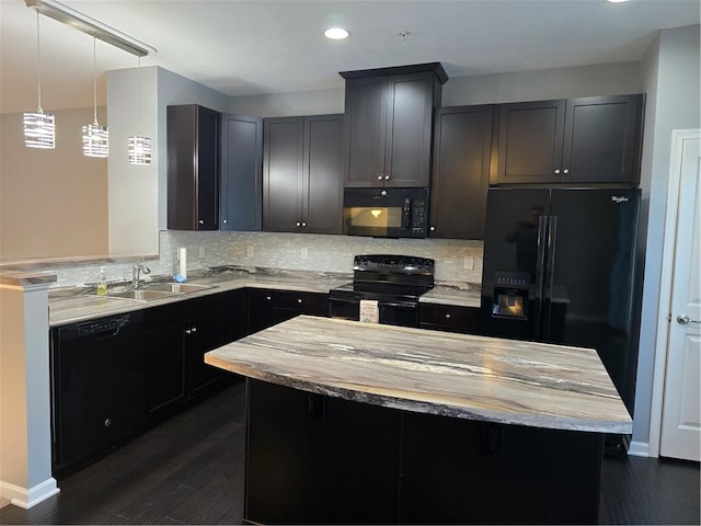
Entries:
POLYGON ((640 180, 643 95, 567 100, 563 183, 640 180))

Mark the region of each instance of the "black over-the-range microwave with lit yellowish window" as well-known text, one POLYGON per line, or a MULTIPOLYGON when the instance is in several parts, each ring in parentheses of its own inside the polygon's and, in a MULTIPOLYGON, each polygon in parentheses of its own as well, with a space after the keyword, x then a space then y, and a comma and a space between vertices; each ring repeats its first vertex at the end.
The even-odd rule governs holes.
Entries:
POLYGON ((349 236, 425 238, 428 188, 345 188, 343 228, 349 236))

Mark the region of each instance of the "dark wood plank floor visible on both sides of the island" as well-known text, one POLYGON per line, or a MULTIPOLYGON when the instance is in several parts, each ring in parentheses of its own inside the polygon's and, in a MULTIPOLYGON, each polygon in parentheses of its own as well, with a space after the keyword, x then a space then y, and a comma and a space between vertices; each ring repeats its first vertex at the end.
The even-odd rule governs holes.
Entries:
MULTIPOLYGON (((59 481, 32 510, 0 524, 241 524, 243 382, 151 428, 59 481)), ((700 524, 699 465, 606 458, 600 523, 700 524)))

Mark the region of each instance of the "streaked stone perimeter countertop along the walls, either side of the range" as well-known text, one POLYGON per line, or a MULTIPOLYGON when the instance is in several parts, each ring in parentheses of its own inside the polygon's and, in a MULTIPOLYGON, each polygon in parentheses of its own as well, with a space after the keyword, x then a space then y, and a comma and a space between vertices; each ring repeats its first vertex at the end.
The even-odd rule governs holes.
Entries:
MULTIPOLYGON (((36 275, 41 276, 41 274, 36 275)), ((353 281, 352 274, 261 267, 215 268, 194 272, 188 277, 187 283, 207 285, 211 288, 148 301, 95 296, 94 287, 51 290, 49 291, 49 325, 58 327, 104 316, 120 315, 237 288, 258 287, 326 294, 330 289, 353 281)), ((128 288, 128 285, 125 284, 124 287, 128 288)), ((148 284, 143 288, 148 288, 148 284)), ((111 284, 110 289, 114 290, 114 285, 111 284)), ((452 284, 449 286, 438 285, 423 295, 421 301, 479 307, 480 295, 469 288, 459 289, 452 284)))

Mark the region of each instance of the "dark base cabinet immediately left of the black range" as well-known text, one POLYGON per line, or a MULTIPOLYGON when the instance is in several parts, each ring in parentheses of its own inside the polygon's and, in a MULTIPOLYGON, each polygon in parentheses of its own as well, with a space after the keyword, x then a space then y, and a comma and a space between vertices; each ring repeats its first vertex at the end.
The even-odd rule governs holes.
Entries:
POLYGON ((299 315, 327 317, 329 295, 266 288, 249 289, 249 334, 299 315))

